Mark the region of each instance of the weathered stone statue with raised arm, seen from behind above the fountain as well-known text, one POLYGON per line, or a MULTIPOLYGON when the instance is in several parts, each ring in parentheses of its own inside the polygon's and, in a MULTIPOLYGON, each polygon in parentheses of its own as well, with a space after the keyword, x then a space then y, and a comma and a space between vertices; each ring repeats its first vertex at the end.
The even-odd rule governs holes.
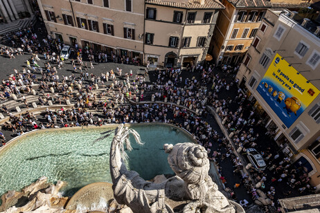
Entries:
POLYGON ((119 204, 125 204, 133 212, 141 213, 174 212, 168 201, 186 201, 181 210, 184 213, 239 212, 233 205, 235 203, 232 204, 219 192, 217 185, 208 176, 209 160, 206 150, 200 145, 164 145, 168 163, 176 176, 162 183, 143 180, 137 172, 127 171, 123 155, 125 145, 127 149, 132 149, 130 133, 137 143, 142 144, 136 131, 121 124, 116 130, 110 150, 110 172, 114 184, 112 188, 119 204))

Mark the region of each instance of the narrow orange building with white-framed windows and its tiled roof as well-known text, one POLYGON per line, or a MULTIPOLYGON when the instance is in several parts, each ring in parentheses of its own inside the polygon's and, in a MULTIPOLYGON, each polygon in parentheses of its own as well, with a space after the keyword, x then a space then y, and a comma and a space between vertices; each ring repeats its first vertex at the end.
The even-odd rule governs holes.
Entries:
POLYGON ((222 0, 225 9, 220 12, 213 33, 209 53, 216 64, 242 62, 252 39, 268 8, 296 10, 310 6, 303 0, 222 0))

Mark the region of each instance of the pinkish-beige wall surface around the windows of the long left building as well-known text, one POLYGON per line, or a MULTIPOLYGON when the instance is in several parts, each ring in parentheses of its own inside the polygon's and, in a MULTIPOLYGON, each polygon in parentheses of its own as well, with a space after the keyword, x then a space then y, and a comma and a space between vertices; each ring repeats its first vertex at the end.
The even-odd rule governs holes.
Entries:
POLYGON ((53 11, 55 12, 55 16, 59 15, 60 17, 57 18, 57 23, 53 21, 45 22, 48 32, 53 33, 53 36, 54 33, 59 33, 66 44, 70 44, 69 37, 75 37, 78 39, 80 48, 82 48, 80 40, 82 39, 94 44, 143 53, 143 39, 139 39, 139 35, 143 35, 144 18, 143 7, 141 8, 143 0, 133 1, 133 12, 125 11, 124 1, 111 1, 109 2, 109 8, 103 7, 102 0, 94 0, 94 5, 82 2, 71 1, 73 7, 71 8, 69 1, 57 0, 52 4, 52 1, 42 0, 39 6, 42 9, 44 19, 46 19, 44 10, 53 11), (72 9, 75 17, 73 19, 74 26, 66 26, 64 25, 62 14, 73 15, 72 9), (98 21, 99 32, 78 28, 76 17, 98 21), (114 25, 114 36, 103 33, 103 23, 106 23, 106 20, 108 20, 107 24, 111 23, 114 25), (127 26, 134 28, 134 40, 124 38, 123 28, 127 26))

